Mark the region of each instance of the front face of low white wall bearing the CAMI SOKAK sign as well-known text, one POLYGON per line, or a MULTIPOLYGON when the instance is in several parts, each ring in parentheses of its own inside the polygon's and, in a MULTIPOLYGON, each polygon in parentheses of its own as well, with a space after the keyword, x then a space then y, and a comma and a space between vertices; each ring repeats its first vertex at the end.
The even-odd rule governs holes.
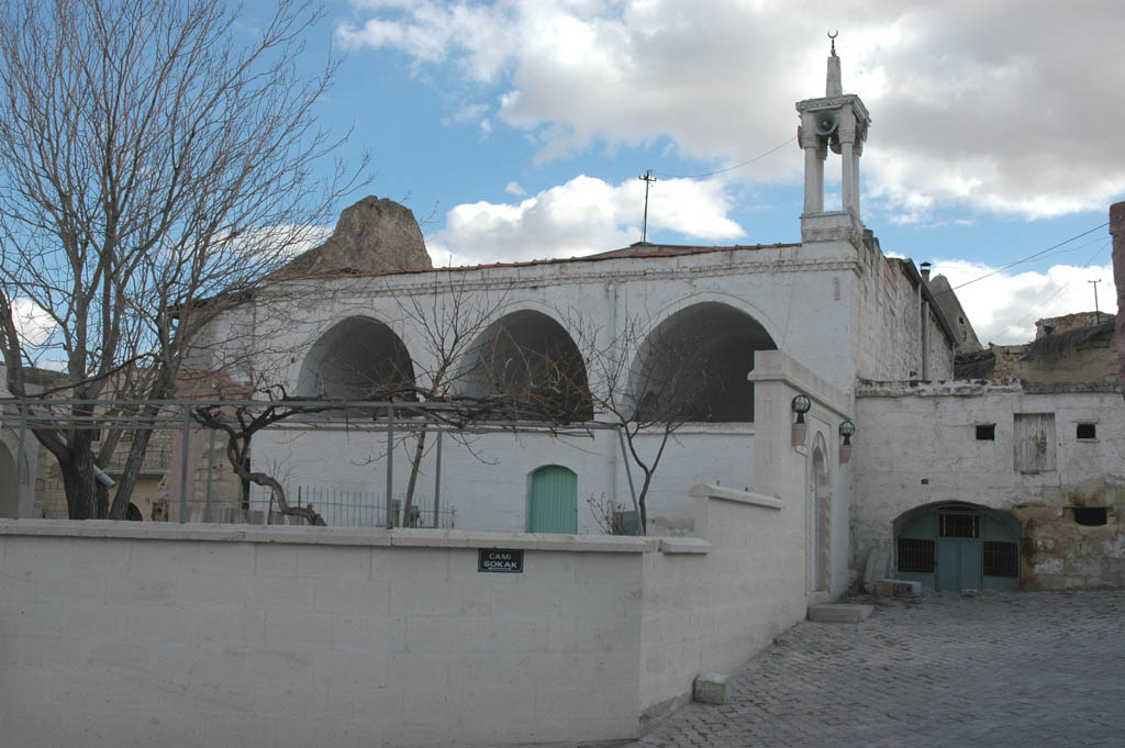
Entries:
POLYGON ((637 730, 645 539, 25 520, 0 546, 8 745, 637 730), (526 549, 524 574, 478 573, 477 547, 526 549))

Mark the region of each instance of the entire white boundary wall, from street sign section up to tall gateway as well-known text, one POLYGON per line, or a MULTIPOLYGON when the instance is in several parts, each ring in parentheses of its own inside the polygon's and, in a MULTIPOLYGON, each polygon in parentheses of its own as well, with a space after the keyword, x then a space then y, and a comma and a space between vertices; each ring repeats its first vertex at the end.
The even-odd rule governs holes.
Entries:
POLYGON ((0 521, 0 724, 25 748, 576 745, 637 737, 847 583, 847 397, 756 362, 754 490, 698 538, 0 521), (810 589, 813 400, 831 574, 810 589), (760 439, 762 449, 758 449, 760 439), (812 443, 811 441, 809 442, 812 443), (520 549, 522 574, 477 570, 520 549))

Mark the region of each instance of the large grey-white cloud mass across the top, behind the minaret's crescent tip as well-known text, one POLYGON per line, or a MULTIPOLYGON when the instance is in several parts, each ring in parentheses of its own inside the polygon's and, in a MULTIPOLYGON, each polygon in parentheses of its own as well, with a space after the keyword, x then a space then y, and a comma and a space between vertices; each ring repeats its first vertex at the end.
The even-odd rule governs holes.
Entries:
MULTIPOLYGON (((942 207, 1058 216, 1125 193, 1117 3, 881 0, 842 17, 812 2, 392 6, 368 3, 340 38, 457 65, 492 91, 501 120, 536 138, 540 161, 660 137, 717 165, 757 155, 793 134, 795 99, 824 90, 824 33, 838 25, 845 90, 874 119, 865 190, 893 219, 942 207)), ((738 175, 799 169, 778 156, 738 175)))

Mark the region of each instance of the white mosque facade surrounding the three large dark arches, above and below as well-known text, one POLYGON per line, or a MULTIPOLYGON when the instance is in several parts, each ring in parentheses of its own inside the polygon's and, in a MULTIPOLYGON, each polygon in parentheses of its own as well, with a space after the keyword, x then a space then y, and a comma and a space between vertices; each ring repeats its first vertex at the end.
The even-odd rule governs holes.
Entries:
MULTIPOLYGON (((763 246, 674 258, 576 260, 468 270, 402 273, 374 278, 290 281, 264 291, 253 309, 253 323, 227 319, 234 331, 216 351, 255 351, 259 381, 284 382, 297 391, 309 348, 335 323, 367 316, 387 324, 404 342, 418 369, 432 367, 425 331, 404 310, 411 298, 458 287, 477 308, 497 307, 497 315, 534 309, 557 321, 579 339, 580 322, 592 324, 598 344, 608 343, 624 321, 640 316, 654 326, 693 304, 721 301, 759 322, 778 348, 840 390, 840 406, 850 407, 856 376, 904 379, 920 376, 920 301, 917 287, 878 245, 824 241, 790 246, 763 246), (248 337, 246 332, 253 331, 248 337)), ((220 330, 223 325, 216 325, 220 330)), ((933 325, 932 373, 948 367, 948 341, 933 325), (944 346, 942 355, 937 355, 944 346)), ((219 339, 222 333, 216 333, 219 339)), ((216 364, 236 362, 228 354, 216 364)), ((236 368, 236 367, 235 367, 236 368)), ((590 376, 596 380, 597 371, 590 376)), ((424 382, 423 382, 424 384, 424 382)), ((594 382, 596 387, 596 381, 594 382)), ((832 434, 835 439, 835 434, 832 434)), ((446 441, 441 493, 457 507, 459 526, 522 530, 525 526, 528 474, 559 463, 579 477, 578 496, 606 494, 631 503, 626 461, 614 438, 549 439, 538 435, 492 435, 476 439, 472 450, 446 441), (495 461, 488 467, 488 461, 495 461)), ((642 440, 649 441, 651 440, 642 440)), ((669 445, 649 498, 652 529, 682 532, 691 507, 686 488, 719 481, 753 487, 753 424, 700 424, 684 429, 669 445)), ((377 436, 323 435, 292 440, 267 432, 255 438, 259 466, 278 466, 290 485, 362 487, 385 490, 384 445, 377 436)), ((396 463, 395 493, 405 488, 406 459, 396 463)), ((432 462, 432 458, 430 458, 432 462)), ((634 479, 640 478, 630 466, 634 479)), ((421 497, 432 496, 432 467, 422 478, 421 497)), ((422 499, 429 502, 432 499, 422 499)), ((582 531, 594 530, 585 507, 582 531)))

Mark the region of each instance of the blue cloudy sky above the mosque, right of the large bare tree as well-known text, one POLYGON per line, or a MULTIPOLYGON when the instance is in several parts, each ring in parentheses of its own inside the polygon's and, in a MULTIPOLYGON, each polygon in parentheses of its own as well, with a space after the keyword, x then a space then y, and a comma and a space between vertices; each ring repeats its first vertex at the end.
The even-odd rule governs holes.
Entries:
POLYGON ((369 191, 414 210, 440 263, 638 241, 648 169, 649 241, 799 241, 793 103, 824 94, 831 29, 872 112, 863 218, 884 251, 954 286, 1000 270, 961 291, 984 342, 1092 309, 1095 288, 1115 308, 1116 2, 333 0, 321 116, 354 126, 369 191))

